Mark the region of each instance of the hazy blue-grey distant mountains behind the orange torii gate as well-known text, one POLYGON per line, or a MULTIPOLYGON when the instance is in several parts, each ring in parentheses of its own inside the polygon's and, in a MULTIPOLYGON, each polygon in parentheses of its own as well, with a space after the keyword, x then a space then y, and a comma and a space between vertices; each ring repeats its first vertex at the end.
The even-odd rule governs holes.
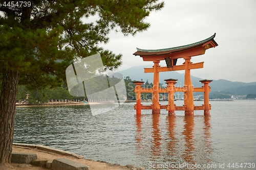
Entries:
MULTIPOLYGON (((132 80, 141 80, 147 81, 149 83, 153 82, 153 73, 144 73, 144 68, 152 67, 150 65, 142 65, 142 66, 134 66, 122 71, 119 71, 123 75, 123 77, 129 76, 132 80)), ((160 72, 159 79, 162 84, 165 84, 165 79, 177 79, 176 86, 182 87, 184 85, 184 74, 180 74, 177 71, 170 72, 160 72)), ((201 78, 191 76, 191 82, 194 87, 201 87, 202 83, 199 82, 202 80, 201 78)), ((214 91, 229 91, 237 95, 241 94, 256 94, 256 82, 251 83, 243 83, 243 82, 231 82, 228 80, 214 80, 210 83, 211 92, 214 91)))

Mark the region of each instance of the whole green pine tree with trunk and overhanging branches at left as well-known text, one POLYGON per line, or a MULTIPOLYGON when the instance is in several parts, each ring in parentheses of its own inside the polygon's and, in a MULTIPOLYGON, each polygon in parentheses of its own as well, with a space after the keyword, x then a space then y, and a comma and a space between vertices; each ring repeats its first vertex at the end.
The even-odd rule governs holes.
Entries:
POLYGON ((108 43, 112 30, 145 31, 150 26, 145 17, 163 5, 158 0, 0 1, 0 164, 10 163, 18 83, 28 89, 59 86, 68 65, 96 53, 106 68, 117 68, 122 55, 99 45, 108 43))

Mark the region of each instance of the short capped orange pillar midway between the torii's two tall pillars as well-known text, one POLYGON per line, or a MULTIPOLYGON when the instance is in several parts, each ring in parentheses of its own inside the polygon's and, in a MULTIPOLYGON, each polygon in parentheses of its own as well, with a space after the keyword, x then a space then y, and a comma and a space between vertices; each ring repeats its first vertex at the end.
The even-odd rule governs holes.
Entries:
POLYGON ((166 79, 164 80, 167 84, 167 91, 168 91, 168 105, 166 110, 168 110, 168 115, 175 115, 175 104, 174 104, 174 86, 177 83, 176 79, 166 79))

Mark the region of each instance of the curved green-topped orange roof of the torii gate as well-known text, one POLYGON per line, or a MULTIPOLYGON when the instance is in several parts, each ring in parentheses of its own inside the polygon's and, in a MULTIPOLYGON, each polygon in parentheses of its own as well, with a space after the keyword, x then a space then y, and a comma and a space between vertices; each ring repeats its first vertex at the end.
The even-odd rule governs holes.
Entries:
POLYGON ((192 44, 163 48, 159 50, 143 50, 137 48, 137 52, 135 52, 133 55, 142 57, 143 61, 164 60, 164 58, 167 57, 177 59, 198 56, 204 54, 205 50, 208 48, 218 46, 217 42, 214 40, 215 36, 216 33, 209 38, 192 44))

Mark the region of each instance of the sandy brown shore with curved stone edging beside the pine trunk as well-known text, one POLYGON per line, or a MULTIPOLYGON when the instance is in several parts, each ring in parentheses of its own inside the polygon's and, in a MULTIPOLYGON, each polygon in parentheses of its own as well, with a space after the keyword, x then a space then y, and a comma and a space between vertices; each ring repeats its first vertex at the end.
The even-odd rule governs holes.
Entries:
MULTIPOLYGON (((94 161, 90 158, 84 159, 83 156, 77 155, 75 153, 62 151, 59 149, 54 149, 51 147, 46 147, 44 145, 36 145, 36 144, 24 144, 24 143, 13 143, 12 147, 13 153, 27 153, 27 154, 36 154, 37 160, 39 162, 52 162, 54 159, 65 158, 71 161, 75 161, 84 165, 89 166, 90 170, 145 170, 144 167, 134 167, 133 165, 119 165, 119 164, 111 164, 104 161, 94 161)), ((37 161, 37 162, 38 162, 37 161)), ((34 161, 36 162, 36 161, 34 161)), ((51 168, 51 167, 50 167, 51 168)), ((0 166, 0 169, 5 170, 46 170, 49 169, 49 166, 43 163, 35 164, 35 163, 14 163, 11 165, 0 166)))

